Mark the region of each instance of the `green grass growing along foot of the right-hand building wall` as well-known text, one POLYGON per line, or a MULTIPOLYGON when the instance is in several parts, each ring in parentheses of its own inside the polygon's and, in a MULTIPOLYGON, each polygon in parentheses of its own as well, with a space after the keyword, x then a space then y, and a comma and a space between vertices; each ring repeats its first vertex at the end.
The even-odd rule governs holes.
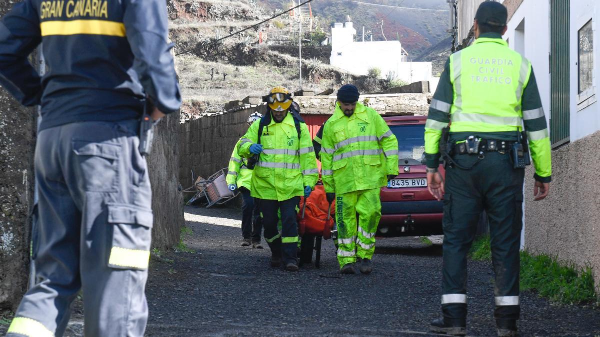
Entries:
MULTIPOLYGON (((473 260, 491 261, 490 236, 473 242, 469 252, 473 260)), ((559 261, 548 255, 521 251, 521 290, 537 291, 539 296, 561 304, 585 304, 596 301, 592 268, 559 261)))

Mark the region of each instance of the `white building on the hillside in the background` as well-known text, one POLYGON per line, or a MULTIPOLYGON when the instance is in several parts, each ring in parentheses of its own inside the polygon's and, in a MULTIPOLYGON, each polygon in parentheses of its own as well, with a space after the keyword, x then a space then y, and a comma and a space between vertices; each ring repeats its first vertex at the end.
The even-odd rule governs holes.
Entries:
POLYGON ((431 62, 409 62, 400 41, 355 41, 352 22, 334 23, 331 28, 331 65, 350 73, 366 75, 379 68, 382 79, 394 75, 407 83, 431 80, 431 62))

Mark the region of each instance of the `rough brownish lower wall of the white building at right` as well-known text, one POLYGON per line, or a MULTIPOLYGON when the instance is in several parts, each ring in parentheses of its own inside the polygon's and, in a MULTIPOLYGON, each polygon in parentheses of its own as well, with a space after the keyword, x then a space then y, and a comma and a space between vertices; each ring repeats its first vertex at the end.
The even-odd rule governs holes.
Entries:
POLYGON ((592 266, 600 291, 600 131, 552 152, 552 182, 533 201, 533 166, 525 183, 525 247, 592 266))

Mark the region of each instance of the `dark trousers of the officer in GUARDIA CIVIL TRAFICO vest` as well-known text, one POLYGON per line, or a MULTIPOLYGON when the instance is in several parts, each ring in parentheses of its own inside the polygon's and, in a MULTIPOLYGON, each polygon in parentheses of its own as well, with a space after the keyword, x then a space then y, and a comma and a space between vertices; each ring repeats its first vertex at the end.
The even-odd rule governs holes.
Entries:
MULTIPOLYGON (((456 154, 452 158, 463 167, 478 161, 478 155, 456 154)), ((518 319, 523 177, 524 169, 514 169, 510 155, 499 152, 487 152, 471 170, 446 170, 442 275, 442 312, 446 320, 462 324, 466 320, 467 252, 482 210, 490 224, 496 276, 494 317, 518 319)))

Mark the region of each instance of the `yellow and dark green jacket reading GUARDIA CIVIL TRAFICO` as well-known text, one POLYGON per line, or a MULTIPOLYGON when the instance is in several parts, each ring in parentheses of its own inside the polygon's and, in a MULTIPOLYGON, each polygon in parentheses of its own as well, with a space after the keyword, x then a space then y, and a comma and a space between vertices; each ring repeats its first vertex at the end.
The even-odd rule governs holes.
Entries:
POLYGON ((451 135, 497 133, 506 137, 506 134, 514 134, 515 140, 517 131, 524 125, 536 179, 549 180, 552 173, 550 137, 539 94, 536 92, 530 95, 534 98, 523 100, 530 82, 537 91, 530 62, 509 49, 499 35, 485 35, 472 46, 452 54, 445 73, 448 74, 442 77, 451 83, 453 97, 444 101, 443 93, 438 94, 445 89, 442 83, 431 101, 425 124, 426 157, 439 152, 440 135, 448 124, 451 135))

